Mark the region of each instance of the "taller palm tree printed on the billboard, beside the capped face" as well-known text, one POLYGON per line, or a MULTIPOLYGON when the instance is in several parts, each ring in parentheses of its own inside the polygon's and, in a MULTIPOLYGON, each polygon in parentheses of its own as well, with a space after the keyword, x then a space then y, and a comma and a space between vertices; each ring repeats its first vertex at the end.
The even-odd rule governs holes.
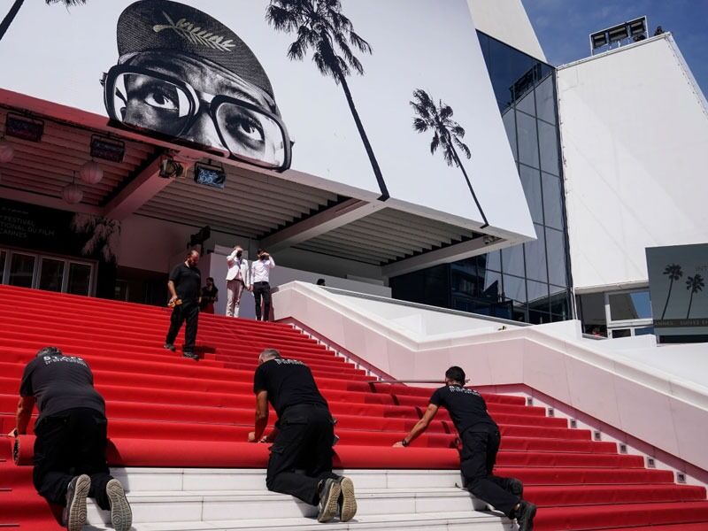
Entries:
POLYGON ((312 60, 319 73, 333 78, 337 85, 342 85, 373 174, 381 189, 379 199, 388 199, 389 190, 383 181, 381 168, 373 155, 371 142, 366 136, 347 83, 347 76, 352 70, 358 74, 364 73, 364 66, 351 47, 370 54, 369 43, 354 33, 351 20, 342 14, 342 4, 339 0, 271 0, 266 9, 266 20, 277 31, 296 32, 297 40, 290 44, 288 58, 302 60, 312 49, 312 60))

